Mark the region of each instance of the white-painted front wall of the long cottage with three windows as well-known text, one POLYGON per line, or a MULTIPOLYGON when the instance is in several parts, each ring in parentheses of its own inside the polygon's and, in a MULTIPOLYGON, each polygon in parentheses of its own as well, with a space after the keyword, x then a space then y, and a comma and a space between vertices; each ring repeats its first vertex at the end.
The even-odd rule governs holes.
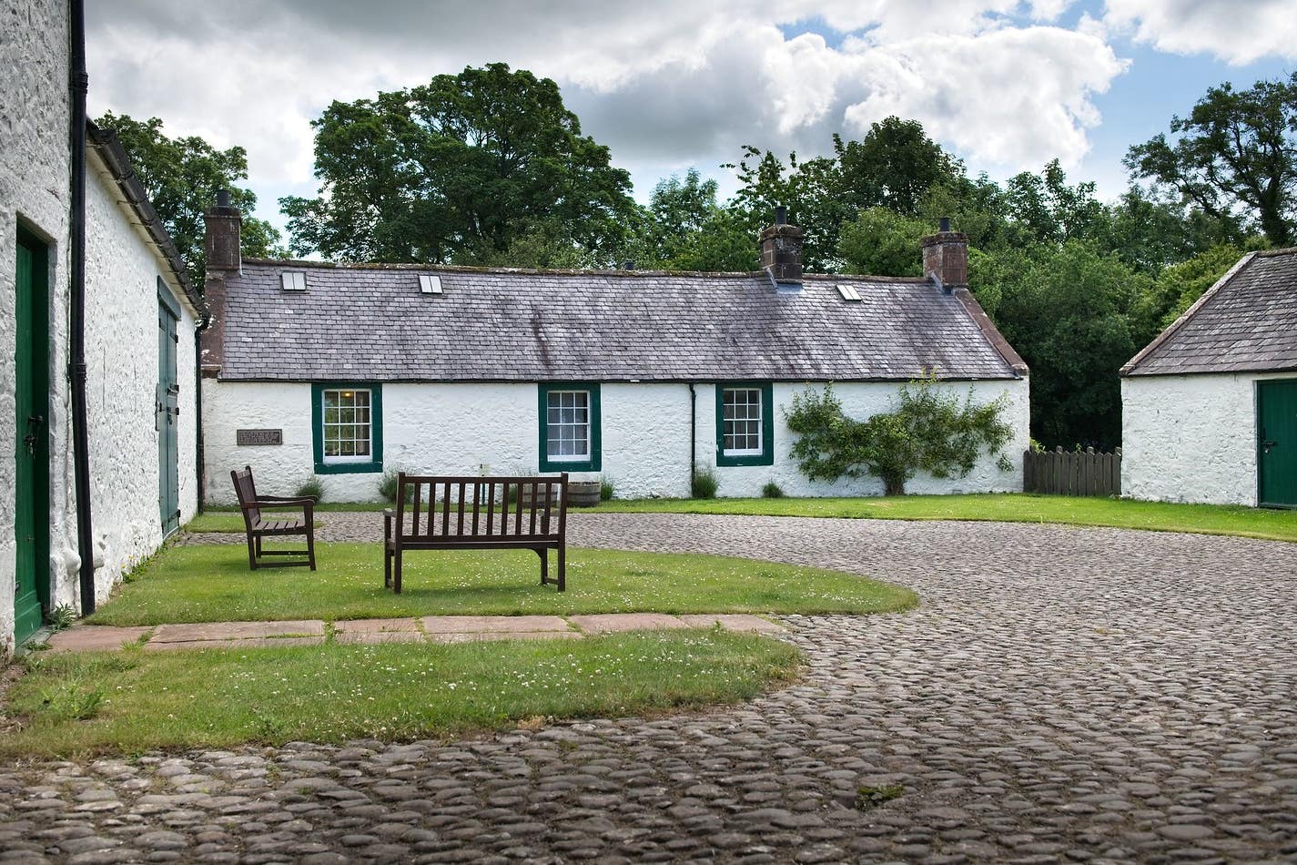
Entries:
MULTIPOLYGON (((789 455, 792 433, 783 409, 807 385, 774 385, 774 466, 722 467, 720 494, 760 495, 770 480, 789 495, 881 495, 882 481, 865 477, 835 484, 808 481, 789 455)), ((1013 468, 1001 472, 983 456, 964 479, 918 476, 912 493, 964 493, 1022 489, 1022 451, 1029 444, 1026 380, 955 383, 961 397, 971 389, 978 402, 1009 396, 1005 419, 1016 433, 1005 453, 1013 468)), ((868 418, 896 407, 895 384, 834 386, 843 410, 868 418)), ((695 385, 695 454, 699 468, 716 464, 716 390, 695 385)), ((253 466, 258 489, 288 495, 310 477, 314 467, 311 386, 300 383, 204 383, 204 440, 208 498, 232 503, 230 471, 253 466), (240 428, 283 429, 284 444, 235 444, 240 428)), ((611 479, 623 498, 689 495, 689 385, 604 384, 601 388, 602 471, 573 472, 575 479, 611 479)), ((534 384, 385 384, 383 386, 384 466, 437 475, 515 475, 536 472, 540 464, 537 386, 534 384)), ((326 475, 331 501, 374 501, 379 475, 326 475)))

